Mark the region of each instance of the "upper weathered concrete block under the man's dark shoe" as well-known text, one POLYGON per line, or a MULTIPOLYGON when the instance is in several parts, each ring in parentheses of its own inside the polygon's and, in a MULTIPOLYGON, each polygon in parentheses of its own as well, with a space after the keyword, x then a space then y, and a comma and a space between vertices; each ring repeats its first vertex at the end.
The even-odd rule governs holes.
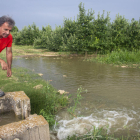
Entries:
POLYGON ((7 92, 0 98, 0 113, 13 110, 15 115, 25 119, 30 115, 30 99, 23 91, 7 92))

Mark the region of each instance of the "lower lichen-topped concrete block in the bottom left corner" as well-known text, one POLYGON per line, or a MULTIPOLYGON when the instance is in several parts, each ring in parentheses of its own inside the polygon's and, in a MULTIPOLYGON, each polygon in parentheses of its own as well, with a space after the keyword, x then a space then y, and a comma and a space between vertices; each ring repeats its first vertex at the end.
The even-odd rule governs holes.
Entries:
POLYGON ((0 127, 2 140, 50 140, 49 124, 41 115, 30 115, 26 120, 0 127))

